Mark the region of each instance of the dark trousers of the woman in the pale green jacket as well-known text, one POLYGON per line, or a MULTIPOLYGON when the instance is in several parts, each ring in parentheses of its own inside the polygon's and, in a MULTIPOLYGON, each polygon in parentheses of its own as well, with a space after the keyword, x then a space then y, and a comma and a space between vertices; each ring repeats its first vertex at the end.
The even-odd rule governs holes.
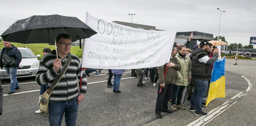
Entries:
POLYGON ((186 86, 180 86, 180 85, 174 85, 173 86, 173 91, 172 91, 172 105, 175 104, 176 98, 177 98, 177 103, 176 105, 180 105, 181 98, 183 95, 183 91, 186 88, 186 86))

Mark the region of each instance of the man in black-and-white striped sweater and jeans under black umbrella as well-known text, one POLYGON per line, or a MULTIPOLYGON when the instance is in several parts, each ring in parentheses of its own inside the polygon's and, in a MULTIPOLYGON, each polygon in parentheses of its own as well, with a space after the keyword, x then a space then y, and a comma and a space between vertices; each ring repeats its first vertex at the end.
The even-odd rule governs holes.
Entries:
POLYGON ((55 50, 45 55, 40 61, 37 72, 37 83, 39 85, 48 83, 49 87, 71 55, 72 60, 66 73, 52 90, 52 95, 49 98, 49 122, 51 126, 61 125, 64 112, 66 125, 76 125, 78 104, 84 100, 86 93, 85 73, 80 80, 82 85, 78 91, 76 77, 80 79, 81 63, 76 55, 70 53, 71 42, 72 38, 68 34, 59 34, 56 40, 58 58, 56 59, 55 50))

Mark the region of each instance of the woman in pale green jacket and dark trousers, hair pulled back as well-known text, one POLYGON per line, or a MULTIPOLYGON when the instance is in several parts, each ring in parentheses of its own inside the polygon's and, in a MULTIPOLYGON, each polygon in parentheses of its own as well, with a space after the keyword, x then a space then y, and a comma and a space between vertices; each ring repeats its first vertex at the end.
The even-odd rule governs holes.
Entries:
POLYGON ((180 105, 181 98, 183 95, 183 91, 186 86, 188 86, 188 80, 191 79, 191 68, 192 62, 190 58, 185 54, 186 53, 186 46, 180 45, 178 49, 179 53, 176 54, 176 58, 178 59, 181 69, 180 71, 176 71, 176 83, 173 86, 172 92, 172 105, 171 109, 176 111, 176 108, 185 109, 182 105, 180 105), (175 105, 177 98, 177 103, 175 105))

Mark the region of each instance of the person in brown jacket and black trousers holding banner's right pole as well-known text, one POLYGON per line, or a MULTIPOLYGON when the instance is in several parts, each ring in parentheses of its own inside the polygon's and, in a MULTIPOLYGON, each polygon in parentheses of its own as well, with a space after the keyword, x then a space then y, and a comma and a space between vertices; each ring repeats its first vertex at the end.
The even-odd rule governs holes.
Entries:
POLYGON ((181 66, 178 59, 175 57, 177 52, 177 45, 173 45, 172 54, 169 63, 158 67, 158 92, 162 87, 161 93, 158 93, 155 105, 156 117, 161 119, 161 112, 172 113, 172 110, 168 109, 168 102, 172 97, 172 87, 176 82, 176 70, 180 70, 181 66), (167 67, 167 70, 166 70, 167 67), (166 72, 165 72, 166 71, 166 72))

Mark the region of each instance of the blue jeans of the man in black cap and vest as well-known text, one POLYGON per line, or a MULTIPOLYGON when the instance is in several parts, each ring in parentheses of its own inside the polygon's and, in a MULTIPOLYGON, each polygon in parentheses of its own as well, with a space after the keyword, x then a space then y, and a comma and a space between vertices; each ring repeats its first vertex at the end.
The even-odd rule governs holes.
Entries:
POLYGON ((194 91, 190 98, 190 107, 196 110, 196 113, 202 111, 202 102, 208 86, 208 80, 194 78, 194 91))

